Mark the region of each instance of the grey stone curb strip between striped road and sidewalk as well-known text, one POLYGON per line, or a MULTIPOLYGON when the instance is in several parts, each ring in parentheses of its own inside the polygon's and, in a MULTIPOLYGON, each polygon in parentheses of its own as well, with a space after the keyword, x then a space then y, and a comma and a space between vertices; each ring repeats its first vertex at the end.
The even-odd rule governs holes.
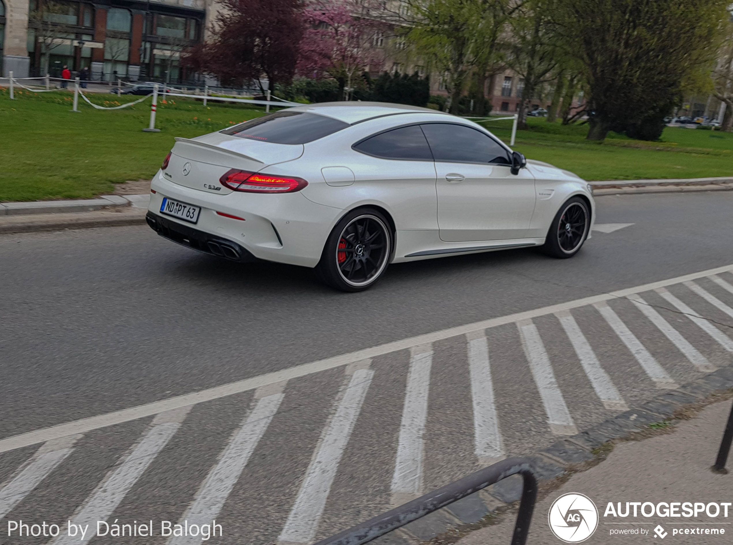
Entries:
MULTIPOLYGON (((610 442, 630 439, 635 434, 649 431, 650 426, 674 418, 678 412, 701 403, 710 395, 733 388, 733 367, 721 367, 701 378, 682 384, 641 403, 638 407, 617 414, 581 433, 560 439, 530 458, 537 468, 539 486, 567 475, 579 464, 596 458, 596 454, 610 442)), ((652 428, 653 429, 653 428, 652 428)), ((715 453, 710 454, 710 460, 715 453)), ((438 537, 454 538, 462 530, 476 529, 474 525, 486 516, 506 511, 522 495, 519 475, 499 481, 457 502, 405 524, 380 538, 375 545, 419 545, 438 537)), ((542 516, 542 513, 536 516, 542 516)), ((450 541, 452 542, 452 541, 450 541)))

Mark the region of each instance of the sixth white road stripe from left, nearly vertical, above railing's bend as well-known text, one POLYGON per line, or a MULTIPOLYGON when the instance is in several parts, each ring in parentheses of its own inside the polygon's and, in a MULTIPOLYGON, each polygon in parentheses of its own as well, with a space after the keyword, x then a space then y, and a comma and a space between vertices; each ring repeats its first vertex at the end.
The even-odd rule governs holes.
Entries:
POLYGON ((479 462, 490 466, 505 458, 494 387, 489 364, 489 347, 484 332, 466 334, 471 398, 474 402, 474 442, 479 462))

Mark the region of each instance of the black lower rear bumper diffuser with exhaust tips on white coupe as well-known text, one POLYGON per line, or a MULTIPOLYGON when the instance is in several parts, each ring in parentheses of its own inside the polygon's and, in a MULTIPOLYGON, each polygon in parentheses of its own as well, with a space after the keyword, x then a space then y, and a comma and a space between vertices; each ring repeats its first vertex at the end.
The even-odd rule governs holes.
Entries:
POLYGON ((243 246, 237 244, 235 241, 230 241, 228 238, 211 235, 193 227, 172 222, 152 212, 147 213, 145 221, 158 235, 198 252, 217 255, 218 257, 224 257, 225 259, 238 261, 239 263, 259 261, 257 257, 254 257, 243 246))

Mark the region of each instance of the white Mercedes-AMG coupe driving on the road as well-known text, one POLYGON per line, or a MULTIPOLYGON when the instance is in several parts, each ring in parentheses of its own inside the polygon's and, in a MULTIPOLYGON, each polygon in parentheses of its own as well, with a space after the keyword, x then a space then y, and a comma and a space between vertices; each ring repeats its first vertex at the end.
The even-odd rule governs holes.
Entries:
POLYGON ((476 123, 403 104, 298 106, 177 138, 151 184, 160 235, 229 260, 315 268, 339 290, 389 263, 542 246, 572 257, 594 202, 476 123))

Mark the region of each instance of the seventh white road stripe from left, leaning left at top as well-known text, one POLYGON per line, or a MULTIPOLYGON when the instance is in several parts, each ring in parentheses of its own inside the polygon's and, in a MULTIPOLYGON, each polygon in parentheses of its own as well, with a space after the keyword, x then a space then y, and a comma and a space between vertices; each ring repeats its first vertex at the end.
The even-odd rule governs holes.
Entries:
POLYGON ((575 428, 565 399, 562 397, 537 326, 531 320, 523 320, 517 322, 517 329, 522 338, 522 346, 534 377, 534 383, 537 384, 539 390, 539 397, 542 398, 545 412, 548 414, 550 431, 556 435, 577 434, 578 428, 575 428))

